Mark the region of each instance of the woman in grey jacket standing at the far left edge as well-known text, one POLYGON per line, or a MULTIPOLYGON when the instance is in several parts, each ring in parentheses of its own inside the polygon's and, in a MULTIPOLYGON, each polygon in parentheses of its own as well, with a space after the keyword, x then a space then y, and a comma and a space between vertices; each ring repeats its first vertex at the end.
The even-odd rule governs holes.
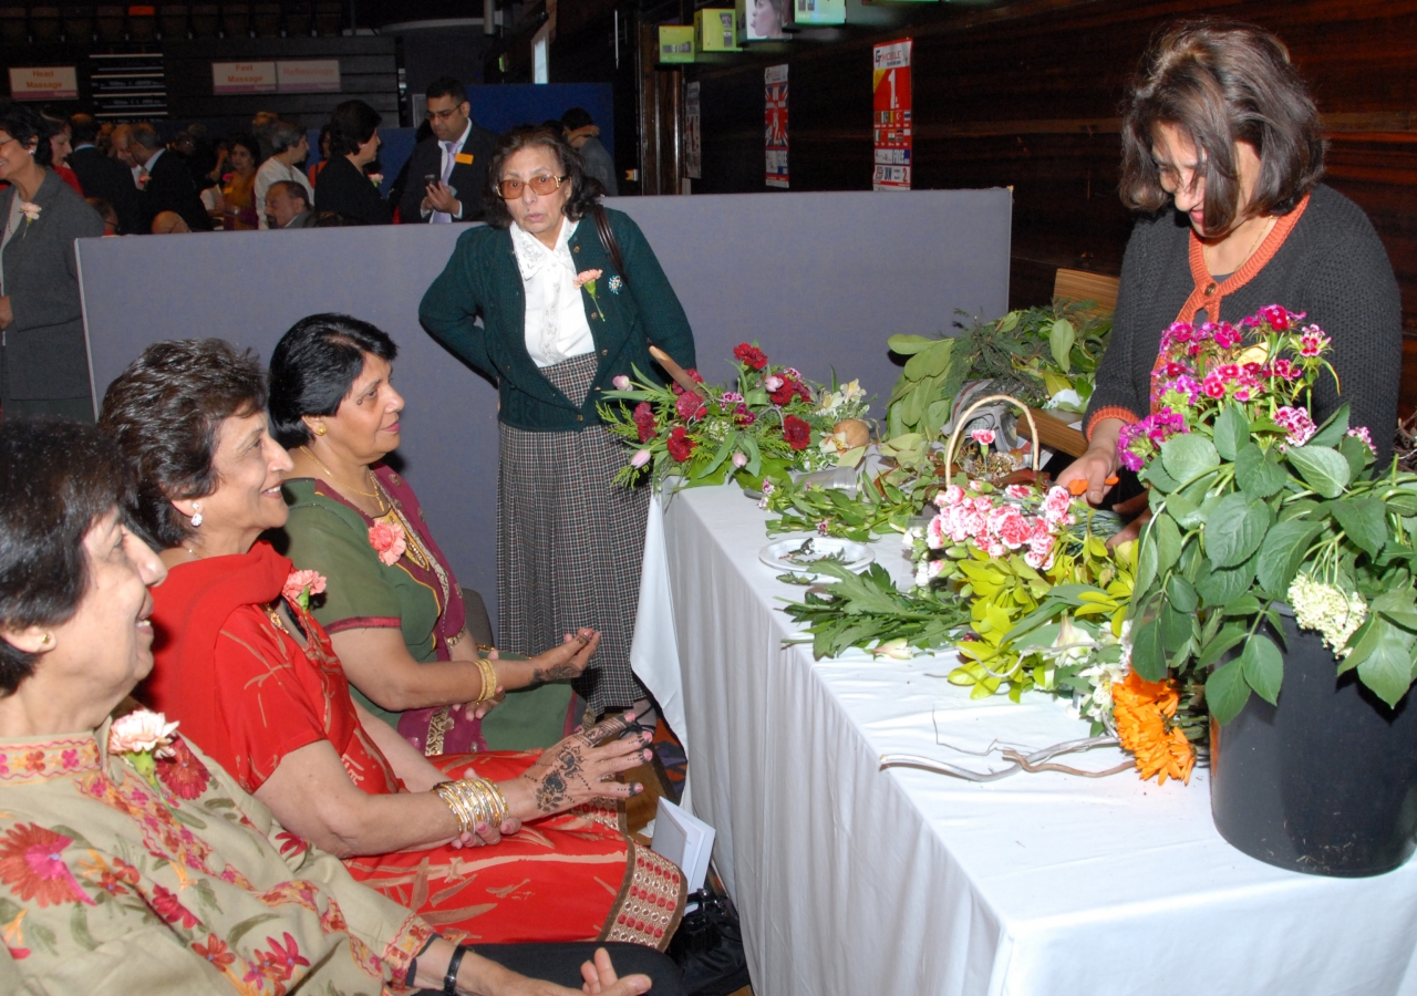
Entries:
POLYGON ((94 421, 74 239, 103 220, 50 164, 38 112, 0 102, 0 409, 94 421))

